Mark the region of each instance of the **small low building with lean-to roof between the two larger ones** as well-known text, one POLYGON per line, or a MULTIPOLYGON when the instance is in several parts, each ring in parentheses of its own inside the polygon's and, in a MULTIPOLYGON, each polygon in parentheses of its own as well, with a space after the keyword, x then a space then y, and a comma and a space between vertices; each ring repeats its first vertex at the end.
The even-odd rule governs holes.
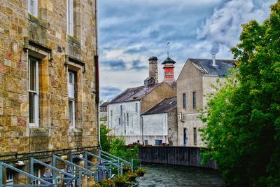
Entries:
POLYGON ((145 145, 177 145, 177 99, 163 99, 148 111, 142 113, 145 145))

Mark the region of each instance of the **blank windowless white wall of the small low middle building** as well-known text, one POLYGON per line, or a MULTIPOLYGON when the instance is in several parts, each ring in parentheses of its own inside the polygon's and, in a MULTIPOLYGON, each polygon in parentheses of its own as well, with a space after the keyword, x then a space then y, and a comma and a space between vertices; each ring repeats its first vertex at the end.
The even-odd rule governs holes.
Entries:
POLYGON ((162 143, 168 144, 167 113, 144 115, 143 131, 144 140, 148 140, 149 145, 155 145, 155 139, 160 139, 162 143))

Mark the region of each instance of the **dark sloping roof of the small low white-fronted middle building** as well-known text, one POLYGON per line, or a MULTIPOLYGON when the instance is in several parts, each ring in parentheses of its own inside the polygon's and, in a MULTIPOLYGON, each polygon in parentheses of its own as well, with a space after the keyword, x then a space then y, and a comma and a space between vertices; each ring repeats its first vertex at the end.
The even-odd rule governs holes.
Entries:
POLYGON ((156 113, 168 113, 177 107, 177 97, 171 97, 163 99, 160 103, 153 106, 142 115, 156 114, 156 113))

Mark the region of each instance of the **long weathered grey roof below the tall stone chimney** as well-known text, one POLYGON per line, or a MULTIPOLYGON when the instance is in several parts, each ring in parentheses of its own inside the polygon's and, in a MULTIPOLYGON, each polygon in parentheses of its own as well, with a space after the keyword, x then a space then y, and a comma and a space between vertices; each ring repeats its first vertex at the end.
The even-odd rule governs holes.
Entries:
POLYGON ((160 84, 162 83, 156 83, 154 85, 151 85, 148 88, 145 88, 144 85, 136 87, 136 88, 128 88, 124 92, 122 92, 120 95, 115 97, 109 104, 112 103, 118 103, 118 102, 129 102, 129 101, 134 101, 134 100, 139 100, 151 91, 153 91, 155 88, 157 88, 160 84))

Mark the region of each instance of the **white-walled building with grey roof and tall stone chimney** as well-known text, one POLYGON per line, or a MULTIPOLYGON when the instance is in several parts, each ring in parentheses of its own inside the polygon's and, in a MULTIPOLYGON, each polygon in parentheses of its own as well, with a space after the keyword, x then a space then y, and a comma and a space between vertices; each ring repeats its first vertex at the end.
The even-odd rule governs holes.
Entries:
POLYGON ((176 90, 167 83, 158 83, 158 58, 150 57, 149 77, 144 85, 128 88, 109 102, 108 126, 111 134, 124 137, 126 144, 143 143, 141 114, 162 99, 175 96, 176 90))

